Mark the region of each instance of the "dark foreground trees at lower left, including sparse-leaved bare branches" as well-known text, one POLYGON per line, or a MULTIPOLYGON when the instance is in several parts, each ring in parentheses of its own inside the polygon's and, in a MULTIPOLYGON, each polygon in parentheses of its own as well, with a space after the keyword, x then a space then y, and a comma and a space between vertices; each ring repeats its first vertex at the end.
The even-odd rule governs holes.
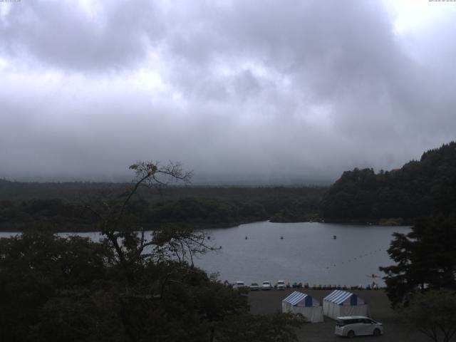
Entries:
POLYGON ((203 232, 158 227, 135 213, 140 187, 190 180, 179 164, 137 162, 121 195, 84 204, 103 239, 54 227, 0 239, 0 331, 6 341, 296 341, 288 315, 252 316, 247 296, 193 264, 203 232), (249 323, 250 322, 250 323, 249 323), (248 336, 254 336, 249 338, 248 336), (263 337, 261 337, 263 336, 263 337), (266 339, 265 339, 266 338, 266 339))

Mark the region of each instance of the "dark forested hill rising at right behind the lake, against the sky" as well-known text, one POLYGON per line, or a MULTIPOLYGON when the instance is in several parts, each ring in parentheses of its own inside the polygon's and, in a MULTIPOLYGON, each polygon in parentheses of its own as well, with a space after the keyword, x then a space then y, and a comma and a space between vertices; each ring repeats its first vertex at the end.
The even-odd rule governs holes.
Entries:
POLYGON ((321 202, 326 221, 405 224, 437 210, 456 214, 456 142, 398 170, 343 172, 321 202))

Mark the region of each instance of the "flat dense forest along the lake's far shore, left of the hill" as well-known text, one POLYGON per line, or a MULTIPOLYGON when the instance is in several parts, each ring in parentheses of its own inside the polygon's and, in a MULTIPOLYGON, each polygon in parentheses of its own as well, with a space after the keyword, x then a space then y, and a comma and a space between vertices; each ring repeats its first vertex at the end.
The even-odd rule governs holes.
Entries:
MULTIPOLYGON (((95 229, 90 204, 113 199, 128 183, 24 183, 0 180, 0 229, 20 231, 47 222, 58 231, 95 229)), ((138 224, 228 227, 271 219, 299 222, 318 217, 324 187, 166 187, 141 188, 130 202, 138 224)))

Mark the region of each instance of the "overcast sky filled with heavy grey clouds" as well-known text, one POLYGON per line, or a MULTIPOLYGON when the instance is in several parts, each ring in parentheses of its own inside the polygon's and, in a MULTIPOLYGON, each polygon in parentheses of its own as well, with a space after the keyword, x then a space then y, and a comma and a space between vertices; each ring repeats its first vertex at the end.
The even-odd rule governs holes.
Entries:
POLYGON ((0 177, 400 167, 456 139, 455 36, 455 1, 0 1, 0 177))

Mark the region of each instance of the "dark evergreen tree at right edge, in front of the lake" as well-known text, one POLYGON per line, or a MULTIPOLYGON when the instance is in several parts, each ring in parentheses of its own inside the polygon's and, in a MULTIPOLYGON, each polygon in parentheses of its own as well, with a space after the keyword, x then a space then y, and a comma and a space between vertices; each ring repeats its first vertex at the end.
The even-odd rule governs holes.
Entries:
POLYGON ((408 234, 394 234, 388 253, 395 265, 384 271, 393 306, 407 305, 411 294, 426 289, 456 290, 454 218, 420 219, 408 234))

